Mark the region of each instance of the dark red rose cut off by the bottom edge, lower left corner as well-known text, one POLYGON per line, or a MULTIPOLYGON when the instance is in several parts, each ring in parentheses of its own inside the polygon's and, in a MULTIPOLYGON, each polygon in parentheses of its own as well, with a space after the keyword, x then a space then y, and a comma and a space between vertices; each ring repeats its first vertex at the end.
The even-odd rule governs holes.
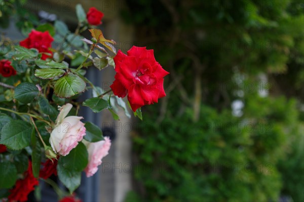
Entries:
POLYGON ((19 179, 13 189, 10 190, 9 201, 27 201, 27 195, 33 191, 39 181, 33 176, 32 164, 28 161, 28 169, 24 173, 24 179, 19 179))

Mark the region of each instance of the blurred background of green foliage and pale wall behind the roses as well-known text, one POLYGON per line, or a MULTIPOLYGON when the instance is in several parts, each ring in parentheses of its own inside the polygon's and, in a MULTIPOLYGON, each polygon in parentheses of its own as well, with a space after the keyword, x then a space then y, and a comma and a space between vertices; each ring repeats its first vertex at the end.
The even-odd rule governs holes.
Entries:
MULTIPOLYGON (((16 40, 58 19, 74 30, 75 5, 96 7, 118 49, 154 49, 170 72, 143 121, 92 115, 113 146, 84 201, 304 201, 303 1, 0 3, 2 37, 16 40)), ((88 74, 108 89, 115 71, 88 74)))

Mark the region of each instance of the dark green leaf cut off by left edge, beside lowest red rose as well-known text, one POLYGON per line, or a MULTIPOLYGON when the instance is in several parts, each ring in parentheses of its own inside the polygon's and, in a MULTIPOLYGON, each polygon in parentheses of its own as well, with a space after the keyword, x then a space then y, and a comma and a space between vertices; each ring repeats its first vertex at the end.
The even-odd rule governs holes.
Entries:
POLYGON ((11 162, 0 162, 0 188, 11 188, 17 180, 16 166, 11 162))

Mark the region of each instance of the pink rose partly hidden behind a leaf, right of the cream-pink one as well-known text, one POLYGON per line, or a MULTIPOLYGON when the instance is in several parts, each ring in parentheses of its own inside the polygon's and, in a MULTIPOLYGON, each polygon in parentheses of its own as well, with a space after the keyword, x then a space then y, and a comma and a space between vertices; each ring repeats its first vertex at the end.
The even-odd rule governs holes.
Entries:
POLYGON ((91 177, 97 172, 102 158, 108 155, 111 140, 109 137, 104 137, 104 140, 102 141, 88 142, 83 140, 83 143, 86 145, 89 153, 89 163, 85 168, 85 172, 87 177, 91 177))

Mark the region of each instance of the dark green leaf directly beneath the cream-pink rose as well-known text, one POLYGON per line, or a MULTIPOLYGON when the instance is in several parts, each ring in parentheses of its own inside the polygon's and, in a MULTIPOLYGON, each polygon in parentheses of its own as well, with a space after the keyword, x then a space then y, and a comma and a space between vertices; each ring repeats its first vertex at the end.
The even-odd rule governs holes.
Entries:
POLYGON ((58 163, 67 171, 83 171, 88 165, 87 147, 79 142, 77 147, 73 148, 68 155, 60 157, 58 163))

